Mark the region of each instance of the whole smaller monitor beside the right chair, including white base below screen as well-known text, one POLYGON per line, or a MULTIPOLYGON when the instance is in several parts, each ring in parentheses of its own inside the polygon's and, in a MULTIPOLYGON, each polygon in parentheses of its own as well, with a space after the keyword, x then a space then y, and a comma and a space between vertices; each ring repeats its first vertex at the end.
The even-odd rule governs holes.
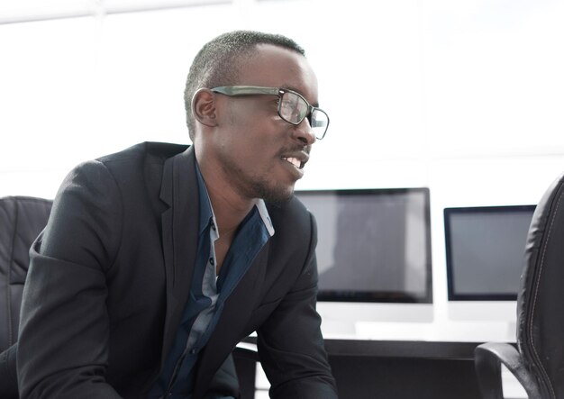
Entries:
POLYGON ((444 209, 448 317, 515 340, 516 298, 535 205, 444 209), (497 332, 495 332, 497 331, 497 332))

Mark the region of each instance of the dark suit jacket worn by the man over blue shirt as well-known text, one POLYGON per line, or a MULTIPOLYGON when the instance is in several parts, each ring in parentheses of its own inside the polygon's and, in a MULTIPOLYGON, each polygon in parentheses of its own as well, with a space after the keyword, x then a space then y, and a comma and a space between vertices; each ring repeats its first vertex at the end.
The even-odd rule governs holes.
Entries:
MULTIPOLYGON (((227 300, 197 364, 195 398, 258 332, 276 398, 336 397, 315 312, 313 216, 268 206, 276 230, 227 300)), ((196 257, 192 148, 142 143, 79 165, 33 244, 18 349, 23 397, 143 397, 168 354, 196 257)))

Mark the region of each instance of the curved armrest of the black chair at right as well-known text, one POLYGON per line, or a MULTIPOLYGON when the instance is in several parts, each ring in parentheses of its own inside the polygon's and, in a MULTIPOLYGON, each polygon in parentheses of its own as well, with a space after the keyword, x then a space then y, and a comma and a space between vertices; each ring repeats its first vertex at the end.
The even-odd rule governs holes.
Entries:
POLYGON ((483 399, 503 399, 501 365, 517 378, 530 398, 541 398, 534 376, 523 364, 517 349, 504 342, 487 342, 474 350, 474 365, 483 399))

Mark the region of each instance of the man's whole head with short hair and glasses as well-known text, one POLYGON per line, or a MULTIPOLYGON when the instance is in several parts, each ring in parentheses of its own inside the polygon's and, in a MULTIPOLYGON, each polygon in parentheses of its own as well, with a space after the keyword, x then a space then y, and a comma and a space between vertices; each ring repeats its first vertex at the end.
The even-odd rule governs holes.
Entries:
POLYGON ((191 138, 208 189, 231 203, 287 200, 329 122, 316 108, 317 78, 304 50, 282 36, 227 33, 196 57, 190 97, 191 138))

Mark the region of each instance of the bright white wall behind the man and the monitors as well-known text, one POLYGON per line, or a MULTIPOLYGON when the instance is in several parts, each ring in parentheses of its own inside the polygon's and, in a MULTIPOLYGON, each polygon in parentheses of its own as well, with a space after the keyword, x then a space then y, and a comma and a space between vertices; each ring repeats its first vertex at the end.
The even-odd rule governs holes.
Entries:
POLYGON ((0 24, 0 195, 53 197, 84 159, 188 142, 187 69, 233 29, 289 35, 317 71, 332 124, 298 188, 431 187, 439 312, 442 208, 534 204, 564 170, 561 1, 239 0, 123 14, 92 3, 86 17, 0 24))

